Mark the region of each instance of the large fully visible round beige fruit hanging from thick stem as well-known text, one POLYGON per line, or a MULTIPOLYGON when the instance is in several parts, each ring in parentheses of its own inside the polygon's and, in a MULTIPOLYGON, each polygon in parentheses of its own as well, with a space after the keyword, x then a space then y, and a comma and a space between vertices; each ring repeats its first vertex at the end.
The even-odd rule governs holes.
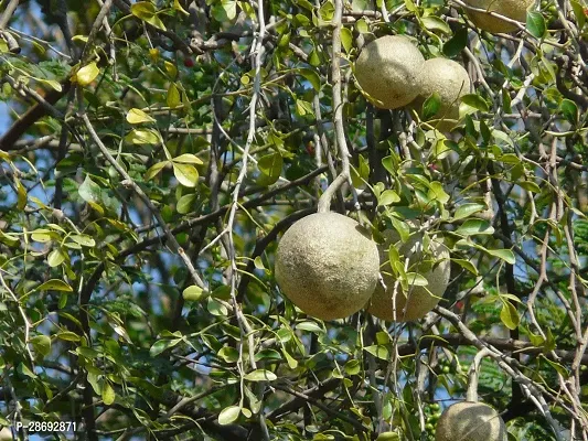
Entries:
POLYGON ((276 252, 276 280, 302 311, 344 319, 363 308, 379 277, 376 244, 350 217, 317 213, 293 224, 276 252))

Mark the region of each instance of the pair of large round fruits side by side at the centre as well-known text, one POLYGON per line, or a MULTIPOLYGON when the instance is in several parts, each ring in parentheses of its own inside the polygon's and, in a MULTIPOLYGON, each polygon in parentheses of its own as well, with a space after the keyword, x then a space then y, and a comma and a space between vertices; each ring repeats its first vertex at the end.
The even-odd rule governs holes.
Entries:
POLYGON ((411 284, 405 291, 388 261, 388 248, 398 236, 391 232, 384 236, 386 243, 378 248, 350 217, 338 213, 307 216, 292 225, 278 245, 278 284, 292 303, 317 319, 343 319, 362 308, 383 320, 421 319, 437 305, 449 283, 449 251, 431 243, 430 255, 440 260, 434 267, 430 258, 424 258, 427 252, 420 249, 419 233, 399 246, 399 255, 409 258, 407 272, 427 267, 419 272, 428 284, 411 284), (379 282, 382 263, 386 289, 379 282))

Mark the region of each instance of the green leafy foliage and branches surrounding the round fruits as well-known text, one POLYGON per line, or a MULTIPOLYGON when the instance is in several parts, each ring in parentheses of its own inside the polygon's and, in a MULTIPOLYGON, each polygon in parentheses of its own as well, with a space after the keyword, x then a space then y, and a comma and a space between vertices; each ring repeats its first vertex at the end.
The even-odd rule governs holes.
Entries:
POLYGON ((510 439, 586 439, 587 9, 546 0, 492 35, 463 8, 1 0, 0 426, 432 440, 487 347, 480 398, 510 439), (353 62, 387 34, 469 72, 452 132, 426 119, 435 95, 362 95, 353 62), (423 321, 322 322, 276 284, 276 244, 344 144, 333 211, 451 250, 423 321))

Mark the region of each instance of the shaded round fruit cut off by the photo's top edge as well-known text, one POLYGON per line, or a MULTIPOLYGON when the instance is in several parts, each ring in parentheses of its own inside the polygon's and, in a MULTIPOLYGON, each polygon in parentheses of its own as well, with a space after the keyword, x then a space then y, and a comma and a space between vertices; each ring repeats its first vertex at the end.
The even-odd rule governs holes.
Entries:
MULTIPOLYGON (((496 12, 522 23, 525 23, 526 21, 527 10, 535 4, 535 0, 466 0, 464 2, 470 7, 496 12)), ((491 33, 513 32, 518 30, 514 24, 484 12, 474 12, 467 9, 466 13, 473 24, 491 33)))

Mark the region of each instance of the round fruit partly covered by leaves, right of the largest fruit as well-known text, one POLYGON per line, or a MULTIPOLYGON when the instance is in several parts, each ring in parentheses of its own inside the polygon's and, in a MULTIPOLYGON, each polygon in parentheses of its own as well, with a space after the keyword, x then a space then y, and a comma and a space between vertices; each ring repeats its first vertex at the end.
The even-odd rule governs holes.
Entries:
MULTIPOLYGON (((388 248, 391 244, 394 244, 398 240, 398 235, 395 230, 387 230, 384 233, 386 241, 379 247, 379 257, 381 263, 388 260, 388 248)), ((421 252, 410 254, 410 249, 419 241, 423 240, 423 236, 419 234, 414 234, 410 238, 400 246, 398 249, 400 255, 405 257, 409 256, 409 271, 415 271, 415 263, 423 260, 421 252)), ((450 276, 450 261, 449 261, 449 250, 442 244, 431 240, 431 254, 435 256, 435 259, 443 259, 440 261, 435 269, 429 270, 424 276, 429 284, 427 288, 435 295, 432 297, 427 292, 425 287, 410 287, 409 298, 407 302, 407 297, 403 291, 402 287, 398 284, 398 290, 396 292, 396 302, 393 302, 394 284, 396 279, 392 273, 389 263, 383 268, 384 282, 386 283, 386 290, 382 284, 377 284, 367 304, 367 312, 372 315, 375 315, 382 320, 396 321, 396 322, 409 322, 423 319, 427 313, 432 310, 440 301, 449 284, 450 276), (387 272, 388 275, 386 275, 387 272), (408 304, 407 304, 408 303, 408 304), (396 305, 396 318, 394 315, 394 305, 396 305), (406 309, 406 310, 405 310, 406 309), (395 320, 396 319, 396 320, 395 320)), ((402 258, 402 257, 400 257, 402 258)), ((430 255, 429 255, 430 259, 430 255)), ((420 272, 419 272, 420 273, 420 272)))

